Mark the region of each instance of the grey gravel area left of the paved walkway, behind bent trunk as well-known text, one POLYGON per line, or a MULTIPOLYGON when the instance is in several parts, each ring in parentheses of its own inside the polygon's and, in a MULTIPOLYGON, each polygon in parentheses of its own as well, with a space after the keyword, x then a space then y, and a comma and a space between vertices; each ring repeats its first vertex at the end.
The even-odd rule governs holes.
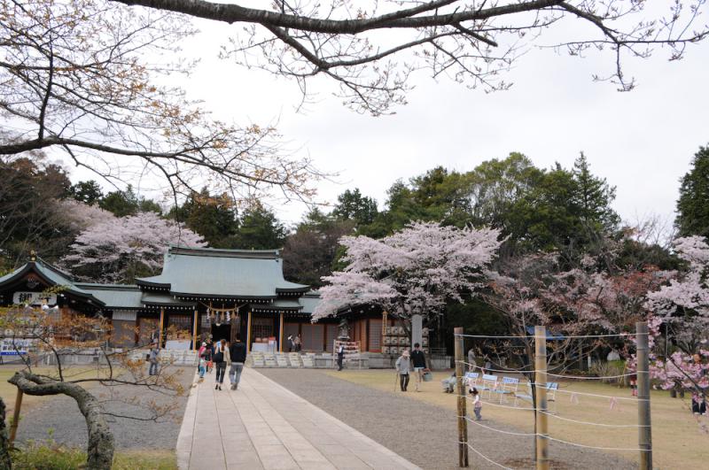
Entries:
MULTIPOLYGON (((189 390, 194 378, 194 367, 180 367, 180 381, 185 390, 189 390)), ((94 396, 106 396, 105 388, 97 386, 91 389, 94 396)), ((187 393, 182 397, 168 396, 156 391, 131 386, 112 387, 113 397, 121 402, 105 404, 106 411, 114 413, 131 413, 136 415, 136 407, 127 405, 129 401, 139 397, 141 400, 155 400, 159 405, 177 402, 176 409, 159 422, 127 420, 110 418, 117 449, 168 449, 174 450, 180 424, 183 420, 184 406, 187 403, 187 393)), ((102 398, 105 399, 105 398, 102 398)), ((138 416, 140 416, 138 411, 138 416)), ((65 396, 52 397, 46 403, 33 406, 28 412, 23 412, 18 427, 18 441, 43 440, 50 437, 58 443, 71 447, 85 448, 88 440, 86 421, 73 398, 65 396)))

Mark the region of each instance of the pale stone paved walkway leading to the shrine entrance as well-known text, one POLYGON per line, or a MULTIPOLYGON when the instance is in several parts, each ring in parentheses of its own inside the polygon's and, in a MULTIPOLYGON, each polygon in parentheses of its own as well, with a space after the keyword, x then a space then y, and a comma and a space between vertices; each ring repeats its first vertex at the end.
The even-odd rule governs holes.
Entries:
POLYGON ((177 439, 181 469, 418 468, 251 368, 238 390, 223 388, 214 390, 209 374, 191 389, 177 439))

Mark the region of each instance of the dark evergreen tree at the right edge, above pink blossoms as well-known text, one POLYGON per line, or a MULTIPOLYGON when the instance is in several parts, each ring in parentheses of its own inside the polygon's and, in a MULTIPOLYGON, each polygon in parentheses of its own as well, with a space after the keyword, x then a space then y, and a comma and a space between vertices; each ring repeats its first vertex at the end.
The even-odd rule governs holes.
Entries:
POLYGON ((709 146, 699 147, 681 181, 674 220, 679 235, 709 236, 709 146))

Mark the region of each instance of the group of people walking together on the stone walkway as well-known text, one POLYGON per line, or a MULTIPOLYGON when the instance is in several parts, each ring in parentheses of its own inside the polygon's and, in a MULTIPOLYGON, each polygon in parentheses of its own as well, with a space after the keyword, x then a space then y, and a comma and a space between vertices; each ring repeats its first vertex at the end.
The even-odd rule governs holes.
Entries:
POLYGON ((224 383, 224 375, 229 367, 229 381, 231 389, 238 389, 238 382, 241 380, 241 372, 244 370, 246 362, 246 344, 241 342, 237 335, 235 341, 222 339, 216 343, 202 343, 199 348, 199 381, 203 381, 205 374, 211 373, 212 368, 216 371, 214 389, 221 390, 224 383))

